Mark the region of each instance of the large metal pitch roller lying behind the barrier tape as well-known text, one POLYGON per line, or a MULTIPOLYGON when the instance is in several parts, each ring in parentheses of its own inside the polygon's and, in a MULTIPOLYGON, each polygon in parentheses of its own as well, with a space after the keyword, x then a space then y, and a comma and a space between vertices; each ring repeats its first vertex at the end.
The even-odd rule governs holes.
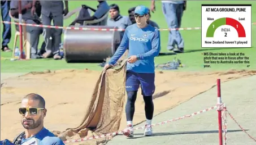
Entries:
MULTIPOLYGON (((117 29, 109 26, 81 27, 117 29)), ((114 55, 119 43, 119 31, 67 29, 64 32, 63 49, 67 62, 102 62, 114 55)))

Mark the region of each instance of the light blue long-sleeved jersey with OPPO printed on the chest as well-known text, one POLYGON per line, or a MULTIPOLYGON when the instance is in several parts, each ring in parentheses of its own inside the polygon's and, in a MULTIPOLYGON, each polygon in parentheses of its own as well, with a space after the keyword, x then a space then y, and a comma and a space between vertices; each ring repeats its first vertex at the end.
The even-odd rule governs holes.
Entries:
POLYGON ((109 64, 114 65, 129 48, 128 57, 136 55, 138 60, 133 64, 127 62, 127 70, 137 73, 154 73, 154 57, 160 52, 160 34, 158 29, 151 25, 139 28, 137 24, 128 26, 120 46, 112 56, 109 64))

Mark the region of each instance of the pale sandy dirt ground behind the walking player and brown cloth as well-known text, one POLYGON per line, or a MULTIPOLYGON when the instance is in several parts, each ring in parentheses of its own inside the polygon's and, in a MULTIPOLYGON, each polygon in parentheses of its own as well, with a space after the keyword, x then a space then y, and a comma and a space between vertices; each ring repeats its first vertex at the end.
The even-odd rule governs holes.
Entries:
MULTIPOLYGON (((1 80, 1 140, 13 139, 23 131, 18 108, 21 98, 28 93, 38 93, 46 100, 47 115, 45 127, 49 130, 64 131, 80 124, 88 105, 88 98, 100 72, 92 70, 59 70, 30 72, 18 77, 1 80)), ((154 94, 154 115, 188 101, 199 93, 205 92, 222 81, 255 75, 256 71, 225 72, 156 72, 154 94)), ((139 91, 138 94, 141 94, 139 91)), ((216 96, 212 96, 216 97, 216 96)), ((144 102, 137 97, 134 124, 145 120, 144 102)), ((120 130, 126 125, 123 111, 120 130)), ((104 139, 73 144, 98 144, 104 139)))

